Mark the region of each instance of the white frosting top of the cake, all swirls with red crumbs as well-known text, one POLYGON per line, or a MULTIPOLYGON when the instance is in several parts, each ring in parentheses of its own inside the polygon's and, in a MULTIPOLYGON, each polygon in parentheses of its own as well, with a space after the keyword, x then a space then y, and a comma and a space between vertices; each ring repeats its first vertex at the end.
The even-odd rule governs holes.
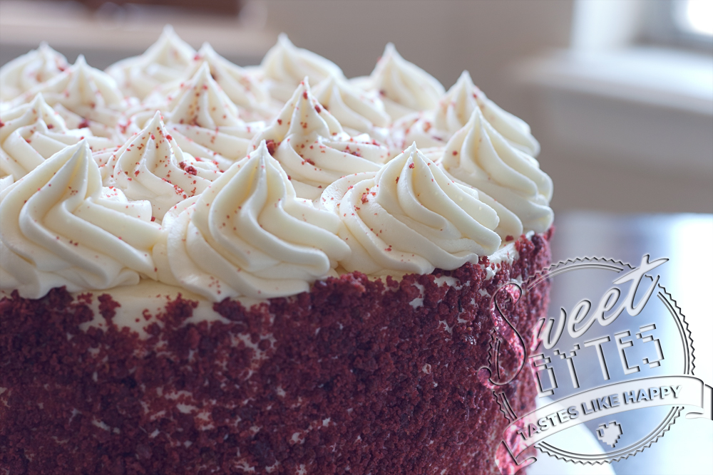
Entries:
POLYGON ((553 221, 530 127, 391 43, 350 80, 284 34, 241 68, 167 26, 106 73, 43 44, 0 88, 0 290, 26 298, 292 296, 477 263, 553 221))

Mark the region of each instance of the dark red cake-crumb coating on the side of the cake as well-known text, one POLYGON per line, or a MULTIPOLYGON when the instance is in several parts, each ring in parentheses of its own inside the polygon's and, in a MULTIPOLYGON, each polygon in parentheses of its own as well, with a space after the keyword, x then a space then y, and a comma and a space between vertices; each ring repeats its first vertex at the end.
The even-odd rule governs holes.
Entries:
MULTIPOLYGON (((476 376, 493 340, 479 291, 548 266, 549 236, 521 237, 491 280, 471 264, 401 281, 354 272, 250 309, 225 299, 227 323, 186 323, 197 303, 178 296, 144 339, 111 322, 108 294, 107 325, 82 330, 91 294, 14 292, 0 300, 0 472, 499 474, 508 421, 476 376)), ((525 340, 548 304, 537 289, 509 315, 525 340)), ((516 414, 533 409, 531 375, 502 390, 516 414)))

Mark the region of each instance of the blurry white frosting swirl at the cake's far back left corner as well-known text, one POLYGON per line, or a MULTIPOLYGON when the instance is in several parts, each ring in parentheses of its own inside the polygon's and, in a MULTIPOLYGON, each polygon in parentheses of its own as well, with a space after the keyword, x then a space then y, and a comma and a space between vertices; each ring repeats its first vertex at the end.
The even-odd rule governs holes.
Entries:
POLYGON ((36 50, 0 68, 0 101, 12 100, 61 74, 68 67, 67 58, 43 42, 36 50))

